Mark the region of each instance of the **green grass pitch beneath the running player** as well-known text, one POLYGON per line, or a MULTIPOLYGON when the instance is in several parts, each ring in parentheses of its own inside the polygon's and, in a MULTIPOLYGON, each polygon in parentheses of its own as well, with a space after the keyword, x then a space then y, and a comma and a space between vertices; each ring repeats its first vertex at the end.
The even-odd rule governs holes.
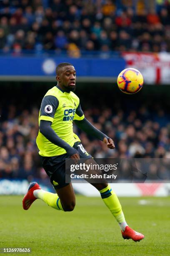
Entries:
POLYGON ((77 196, 73 212, 54 210, 41 200, 25 211, 22 199, 0 196, 0 247, 30 247, 36 256, 170 255, 169 197, 120 198, 127 223, 145 235, 140 243, 123 240, 100 197, 77 196))

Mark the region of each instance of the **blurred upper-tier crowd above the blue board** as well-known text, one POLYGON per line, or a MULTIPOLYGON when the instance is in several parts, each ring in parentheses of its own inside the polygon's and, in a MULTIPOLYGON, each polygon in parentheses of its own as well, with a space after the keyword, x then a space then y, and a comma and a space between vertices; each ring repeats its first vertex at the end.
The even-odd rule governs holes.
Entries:
POLYGON ((79 57, 83 50, 86 54, 96 50, 170 51, 168 0, 0 2, 0 49, 4 53, 55 50, 79 57))

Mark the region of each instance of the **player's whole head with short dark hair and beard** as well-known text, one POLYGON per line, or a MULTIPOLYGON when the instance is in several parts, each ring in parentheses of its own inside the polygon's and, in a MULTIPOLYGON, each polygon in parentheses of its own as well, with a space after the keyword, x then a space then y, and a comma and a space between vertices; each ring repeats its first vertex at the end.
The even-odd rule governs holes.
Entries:
POLYGON ((66 92, 75 91, 76 74, 72 64, 62 62, 56 67, 57 85, 66 92))

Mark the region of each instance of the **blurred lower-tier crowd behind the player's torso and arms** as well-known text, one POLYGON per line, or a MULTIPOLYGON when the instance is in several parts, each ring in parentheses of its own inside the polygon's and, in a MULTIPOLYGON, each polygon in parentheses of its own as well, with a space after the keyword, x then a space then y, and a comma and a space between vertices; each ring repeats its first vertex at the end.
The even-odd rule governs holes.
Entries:
MULTIPOLYGON (((1 111, 2 113, 2 111, 1 111)), ((0 123, 0 178, 22 178, 31 181, 34 177, 47 179, 41 167, 36 146, 38 133, 37 108, 30 112, 23 110, 18 115, 10 105, 7 118, 0 123)), ((115 149, 108 149, 104 143, 88 137, 74 126, 85 149, 96 158, 170 158, 170 123, 164 109, 155 110, 141 105, 138 111, 119 108, 87 108, 86 118, 98 129, 110 136, 115 149)), ((159 166, 152 162, 150 177, 170 179, 170 162, 159 166), (159 176, 158 176, 159 173, 159 176)))

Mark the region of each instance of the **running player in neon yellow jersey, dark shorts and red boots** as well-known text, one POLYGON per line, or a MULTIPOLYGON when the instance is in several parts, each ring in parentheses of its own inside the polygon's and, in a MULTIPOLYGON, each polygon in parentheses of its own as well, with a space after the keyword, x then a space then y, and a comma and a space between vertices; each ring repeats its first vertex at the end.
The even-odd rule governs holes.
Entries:
MULTIPOLYGON (((108 148, 114 149, 114 143, 104 133, 88 122, 82 112, 80 100, 75 95, 76 72, 70 63, 60 63, 56 68, 57 86, 47 91, 42 99, 37 136, 42 166, 50 177, 57 194, 44 191, 37 182, 30 184, 23 199, 23 208, 28 210, 31 204, 41 199, 56 210, 72 211, 75 207, 75 193, 72 184, 65 182, 65 159, 85 163, 93 162, 92 156, 83 148, 80 139, 73 133, 72 122, 90 136, 103 141, 108 148)), ((95 161, 94 161, 95 163, 95 161)), ((122 207, 115 192, 107 183, 92 184, 100 192, 101 198, 120 225, 122 237, 140 241, 143 234, 131 229, 125 221, 122 207)))

